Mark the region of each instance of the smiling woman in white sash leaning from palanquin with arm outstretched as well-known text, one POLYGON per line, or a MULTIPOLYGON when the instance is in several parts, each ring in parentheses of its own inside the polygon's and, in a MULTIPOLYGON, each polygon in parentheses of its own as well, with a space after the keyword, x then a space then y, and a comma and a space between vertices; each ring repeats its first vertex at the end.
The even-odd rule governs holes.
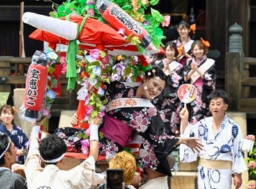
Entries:
MULTIPOLYGON (((140 86, 130 87, 117 80, 106 84, 105 98, 109 100, 104 124, 99 131, 104 134, 100 139, 100 155, 110 160, 128 144, 131 149, 138 145, 136 162, 140 168, 149 167, 161 174, 172 176, 175 163, 173 149, 186 144, 199 149, 195 138, 179 138, 167 135, 164 123, 156 107, 150 102, 166 86, 166 75, 160 68, 145 72, 140 86)), ((77 123, 72 117, 72 125, 77 123)))

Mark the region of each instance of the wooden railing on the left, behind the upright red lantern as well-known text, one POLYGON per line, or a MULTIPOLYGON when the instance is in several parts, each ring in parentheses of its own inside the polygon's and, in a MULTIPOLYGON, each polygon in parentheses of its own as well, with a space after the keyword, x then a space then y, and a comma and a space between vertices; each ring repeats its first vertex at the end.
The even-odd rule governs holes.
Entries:
MULTIPOLYGON (((13 95, 13 89, 25 87, 26 72, 31 59, 31 57, 0 57, 0 92, 10 92, 13 95)), ((77 109, 77 89, 71 93, 67 91, 65 76, 61 76, 59 82, 61 84, 61 96, 54 100, 52 110, 77 109)))

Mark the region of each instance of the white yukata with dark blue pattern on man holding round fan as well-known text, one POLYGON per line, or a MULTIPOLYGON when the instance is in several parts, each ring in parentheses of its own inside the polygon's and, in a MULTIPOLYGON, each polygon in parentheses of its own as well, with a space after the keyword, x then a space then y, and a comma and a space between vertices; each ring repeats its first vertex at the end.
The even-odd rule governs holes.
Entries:
POLYGON ((184 144, 180 145, 180 162, 196 161, 197 156, 205 160, 226 160, 232 162, 232 169, 207 169, 198 166, 198 188, 231 188, 232 172, 241 173, 247 169, 240 150, 243 140, 239 125, 227 115, 216 135, 212 131, 213 117, 201 119, 195 125, 188 125, 182 137, 196 137, 204 145, 198 154, 184 144))

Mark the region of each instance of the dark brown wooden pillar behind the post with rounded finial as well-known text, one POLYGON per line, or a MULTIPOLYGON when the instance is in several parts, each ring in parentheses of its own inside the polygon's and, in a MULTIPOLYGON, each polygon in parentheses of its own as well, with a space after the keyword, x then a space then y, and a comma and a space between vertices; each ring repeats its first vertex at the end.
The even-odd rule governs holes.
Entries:
POLYGON ((225 70, 225 55, 228 45, 228 27, 237 23, 243 27, 243 49, 248 56, 250 0, 205 0, 206 23, 205 38, 211 43, 211 49, 219 50, 221 55, 216 60, 216 69, 225 70))

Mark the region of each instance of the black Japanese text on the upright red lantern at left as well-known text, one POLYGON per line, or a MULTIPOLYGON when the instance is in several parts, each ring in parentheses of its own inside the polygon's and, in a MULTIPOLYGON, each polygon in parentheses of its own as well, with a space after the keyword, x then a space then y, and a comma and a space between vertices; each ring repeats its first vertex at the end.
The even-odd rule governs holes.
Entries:
POLYGON ((39 75, 40 75, 40 70, 33 68, 30 70, 27 76, 29 77, 29 83, 28 83, 28 91, 27 91, 28 100, 26 100, 26 103, 31 106, 34 106, 35 100, 37 100, 37 96, 38 96, 37 84, 38 84, 38 80, 40 80, 39 75))

